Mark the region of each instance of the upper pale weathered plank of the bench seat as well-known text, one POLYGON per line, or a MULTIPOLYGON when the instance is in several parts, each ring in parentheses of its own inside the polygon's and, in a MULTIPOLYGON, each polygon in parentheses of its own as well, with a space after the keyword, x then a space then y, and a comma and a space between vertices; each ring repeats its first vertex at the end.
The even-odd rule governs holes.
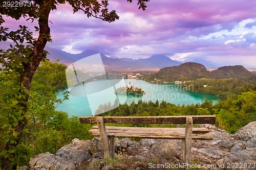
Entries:
MULTIPOLYGON (((148 133, 172 133, 172 132, 184 132, 185 128, 143 128, 143 127, 115 127, 115 126, 106 126, 107 132, 134 132, 134 131, 144 131, 148 133)), ((97 132, 98 126, 93 126, 89 132, 97 132)), ((208 133, 207 128, 193 128, 193 133, 208 133)))

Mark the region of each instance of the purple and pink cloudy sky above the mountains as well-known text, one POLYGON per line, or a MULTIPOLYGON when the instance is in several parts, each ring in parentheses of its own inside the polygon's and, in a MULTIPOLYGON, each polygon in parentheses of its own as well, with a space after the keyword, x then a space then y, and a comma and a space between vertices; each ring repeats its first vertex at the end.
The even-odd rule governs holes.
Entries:
MULTIPOLYGON (((136 1, 109 4, 120 17, 112 23, 59 5, 50 14, 53 42, 47 45, 73 54, 89 49, 133 59, 163 54, 173 60, 198 58, 256 67, 256 1, 151 0, 145 11, 136 1)), ((25 19, 5 20, 10 29, 22 24, 34 30, 25 19)))

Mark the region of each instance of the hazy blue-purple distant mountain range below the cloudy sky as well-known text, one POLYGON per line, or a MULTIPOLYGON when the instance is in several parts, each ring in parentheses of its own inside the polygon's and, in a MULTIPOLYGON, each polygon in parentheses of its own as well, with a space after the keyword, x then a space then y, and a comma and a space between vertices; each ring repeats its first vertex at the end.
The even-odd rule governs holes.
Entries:
MULTIPOLYGON (((1 49, 7 49, 9 48, 9 43, 7 42, 0 42, 0 48, 1 49)), ((188 59, 185 61, 177 61, 177 60, 172 60, 167 56, 160 55, 160 54, 155 54, 152 55, 151 57, 148 58, 143 58, 143 59, 132 59, 132 58, 117 58, 117 57, 107 57, 104 54, 94 51, 94 50, 86 50, 80 54, 71 54, 67 53, 58 49, 51 48, 49 46, 45 47, 45 50, 49 52, 47 55, 47 58, 55 62, 57 59, 59 59, 60 63, 65 64, 65 65, 70 65, 71 63, 74 63, 82 58, 94 55, 94 54, 100 54, 102 62, 104 64, 105 69, 107 70, 116 70, 116 69, 160 69, 164 67, 170 67, 170 66, 178 66, 182 63, 185 62, 196 62, 203 64, 206 68, 218 68, 221 66, 225 65, 237 65, 236 63, 216 63, 212 62, 210 60, 207 60, 206 58, 204 59, 199 59, 199 58, 194 58, 194 59, 188 59)), ((255 66, 249 66, 243 64, 244 67, 247 68, 254 68, 255 66)))

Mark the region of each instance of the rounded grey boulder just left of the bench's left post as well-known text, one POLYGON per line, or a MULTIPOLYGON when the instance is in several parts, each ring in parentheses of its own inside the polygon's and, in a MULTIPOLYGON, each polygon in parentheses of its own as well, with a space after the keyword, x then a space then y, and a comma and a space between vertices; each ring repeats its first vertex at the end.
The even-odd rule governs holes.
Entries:
POLYGON ((73 139, 70 144, 65 145, 56 152, 56 156, 75 164, 82 163, 91 158, 89 152, 90 140, 73 139))

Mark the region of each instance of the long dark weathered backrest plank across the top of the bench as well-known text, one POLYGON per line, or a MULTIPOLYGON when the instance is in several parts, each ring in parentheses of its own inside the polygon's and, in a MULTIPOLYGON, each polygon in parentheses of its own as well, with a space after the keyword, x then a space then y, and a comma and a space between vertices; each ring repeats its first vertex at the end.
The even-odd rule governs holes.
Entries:
MULTIPOLYGON (((186 124, 188 116, 104 116, 105 123, 113 124, 186 124)), ((191 116, 193 124, 215 124, 215 115, 191 116)), ((81 124, 97 123, 97 116, 80 117, 81 124)))

